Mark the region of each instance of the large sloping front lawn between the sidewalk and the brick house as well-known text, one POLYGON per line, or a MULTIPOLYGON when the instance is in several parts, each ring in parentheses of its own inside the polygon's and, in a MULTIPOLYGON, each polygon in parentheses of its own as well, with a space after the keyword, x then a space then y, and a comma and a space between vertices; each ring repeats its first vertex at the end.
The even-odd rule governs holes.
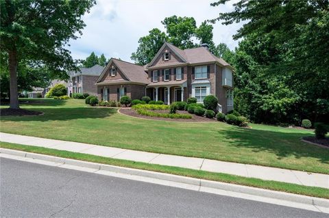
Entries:
POLYGON ((77 99, 36 99, 21 107, 45 115, 3 116, 2 132, 329 174, 329 150, 300 141, 313 135, 308 130, 145 120, 77 99))

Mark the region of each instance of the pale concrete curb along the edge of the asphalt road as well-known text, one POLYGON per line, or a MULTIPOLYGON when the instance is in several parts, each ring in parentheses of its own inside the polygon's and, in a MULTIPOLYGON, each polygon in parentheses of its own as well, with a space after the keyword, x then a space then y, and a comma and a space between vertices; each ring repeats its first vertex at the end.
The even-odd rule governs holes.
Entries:
MULTIPOLYGON (((248 195, 254 195, 256 197, 267 197, 274 200, 284 200, 293 203, 306 204, 309 206, 319 206, 321 208, 329 208, 329 200, 319 197, 310 197, 305 195, 297 195, 293 193, 284 193, 281 191, 272 191, 267 189, 260 189, 255 187, 247 187, 243 185, 234 185, 225 182, 216 182, 211 180, 204 180, 198 178, 190 178, 186 176, 177 176, 173 174, 164 174, 159 172, 151 172, 143 169, 132 169, 126 167, 117 167, 114 165, 105 165, 100 163, 90 163, 86 161, 78 161, 74 159, 65 159, 57 156, 49 156, 44 154, 35 154, 31 152, 23 152, 19 150, 10 150, 6 148, 0 148, 0 153, 11 154, 15 156, 23 156, 31 159, 38 159, 42 161, 51 161, 67 165, 74 165, 77 167, 87 167, 92 169, 98 169, 108 172, 115 172, 119 174, 128 174, 134 176, 143 176, 147 178, 155 178, 159 180, 167 180, 170 182, 179 182, 187 185, 195 185, 200 188, 218 189, 224 191, 232 191, 236 193, 243 193, 248 195)), ((289 205, 287 205, 289 206, 289 205)), ((328 212, 327 212, 328 213, 328 212)))

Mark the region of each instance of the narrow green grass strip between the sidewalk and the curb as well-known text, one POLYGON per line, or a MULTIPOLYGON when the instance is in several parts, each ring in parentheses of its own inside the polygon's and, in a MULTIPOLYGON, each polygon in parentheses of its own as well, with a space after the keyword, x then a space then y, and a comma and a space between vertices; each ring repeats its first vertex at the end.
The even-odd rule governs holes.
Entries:
POLYGON ((130 167, 135 169, 145 169, 154 172, 162 172, 167 174, 175 174, 175 175, 188 176, 193 178, 202 178, 206 180, 214 180, 214 181, 226 182, 236 185, 246 185, 249 187, 258 187, 262 189, 284 191, 284 192, 295 193, 300 195, 308 195, 313 197, 322 197, 329 199, 329 189, 324 189, 320 187, 307 187, 304 185, 296 185, 287 182, 276 182, 269 180, 261 180, 258 178, 247 178, 243 176, 234 176, 230 174, 212 173, 212 172, 200 171, 195 169, 186 169, 182 167, 170 167, 170 166, 156 165, 150 163, 111 159, 103 156, 80 154, 76 152, 67 152, 63 150, 41 148, 36 146, 23 146, 19 144, 10 144, 5 142, 1 142, 0 147, 14 149, 14 150, 22 150, 25 152, 34 152, 38 154, 47 154, 51 156, 60 156, 63 158, 76 159, 81 161, 103 163, 108 165, 116 165, 120 167, 130 167))

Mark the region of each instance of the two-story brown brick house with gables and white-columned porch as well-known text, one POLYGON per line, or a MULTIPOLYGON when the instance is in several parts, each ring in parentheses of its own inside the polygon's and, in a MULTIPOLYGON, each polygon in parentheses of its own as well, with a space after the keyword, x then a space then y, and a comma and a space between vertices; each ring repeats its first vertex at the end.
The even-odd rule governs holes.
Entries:
POLYGON ((169 105, 189 97, 203 103, 212 94, 219 99, 219 111, 227 113, 233 109, 232 74, 232 66, 210 53, 206 44, 182 50, 165 42, 145 66, 110 59, 97 79, 97 96, 100 100, 149 96, 169 105))

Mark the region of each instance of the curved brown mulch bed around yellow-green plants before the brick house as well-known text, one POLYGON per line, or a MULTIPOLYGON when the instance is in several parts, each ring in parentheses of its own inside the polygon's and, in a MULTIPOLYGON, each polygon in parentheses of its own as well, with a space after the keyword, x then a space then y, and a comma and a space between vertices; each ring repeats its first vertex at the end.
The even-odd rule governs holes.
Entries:
MULTIPOLYGON (((154 110, 156 113, 169 113, 169 110, 154 110)), ((147 115, 140 115, 138 114, 134 109, 129 108, 121 108, 120 113, 123 113, 125 115, 131 115, 135 118, 145 118, 149 120, 167 120, 167 121, 178 121, 178 122, 216 122, 217 120, 215 118, 205 118, 199 115, 188 113, 187 111, 177 111, 177 113, 180 114, 191 114, 191 119, 172 119, 172 118, 157 118, 157 117, 151 117, 147 115)))

